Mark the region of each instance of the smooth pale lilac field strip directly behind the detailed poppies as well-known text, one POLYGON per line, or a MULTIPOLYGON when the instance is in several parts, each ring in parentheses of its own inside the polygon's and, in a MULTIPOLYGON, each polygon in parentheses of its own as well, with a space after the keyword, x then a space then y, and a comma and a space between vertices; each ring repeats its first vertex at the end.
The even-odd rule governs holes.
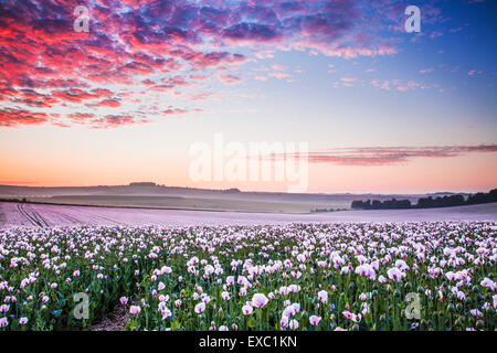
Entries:
POLYGON ((497 221, 497 203, 426 210, 272 214, 61 206, 0 202, 0 227, 72 225, 255 225, 334 222, 497 221))

